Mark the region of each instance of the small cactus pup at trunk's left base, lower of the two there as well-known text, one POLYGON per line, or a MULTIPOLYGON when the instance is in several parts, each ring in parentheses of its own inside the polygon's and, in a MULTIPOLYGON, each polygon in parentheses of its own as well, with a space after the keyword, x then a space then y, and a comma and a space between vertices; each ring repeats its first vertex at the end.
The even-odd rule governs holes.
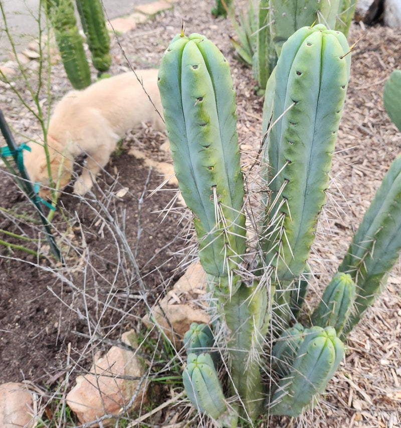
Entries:
POLYGON ((190 402, 202 413, 218 419, 227 410, 223 389, 209 354, 189 354, 182 381, 190 402))

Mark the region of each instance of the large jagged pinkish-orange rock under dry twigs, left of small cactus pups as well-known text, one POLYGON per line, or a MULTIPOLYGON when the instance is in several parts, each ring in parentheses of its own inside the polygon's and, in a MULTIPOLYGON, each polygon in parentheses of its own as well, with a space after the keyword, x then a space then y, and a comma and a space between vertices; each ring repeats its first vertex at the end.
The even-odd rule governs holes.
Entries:
MULTIPOLYGON (((121 340, 133 348, 138 346, 133 330, 124 333, 121 340)), ((67 394, 67 404, 76 413, 80 423, 95 421, 105 414, 117 414, 130 401, 139 383, 139 380, 128 380, 127 377, 140 378, 144 372, 144 364, 134 352, 113 346, 104 357, 95 359, 87 375, 77 377, 77 384, 67 394)), ((145 382, 133 400, 131 409, 138 410, 146 401, 144 386, 145 382)), ((113 420, 106 419, 102 424, 107 426, 111 422, 113 420)))

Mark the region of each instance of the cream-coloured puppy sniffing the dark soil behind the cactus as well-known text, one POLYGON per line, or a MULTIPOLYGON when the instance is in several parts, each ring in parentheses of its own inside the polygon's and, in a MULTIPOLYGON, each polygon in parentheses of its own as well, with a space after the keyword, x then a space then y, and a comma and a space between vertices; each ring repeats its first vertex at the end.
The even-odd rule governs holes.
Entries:
MULTIPOLYGON (((136 70, 136 74, 161 114, 157 70, 136 70)), ((164 129, 161 117, 132 72, 102 79, 83 91, 69 92, 50 118, 48 149, 53 181, 59 188, 68 184, 74 158, 85 153, 86 167, 74 184, 74 193, 85 194, 92 187, 92 179, 107 164, 117 142, 142 122, 151 122, 160 131, 164 129)), ((45 149, 41 144, 30 146, 30 152, 24 150, 28 175, 32 181, 49 186, 45 149)), ((50 190, 41 187, 39 195, 48 197, 50 190)))

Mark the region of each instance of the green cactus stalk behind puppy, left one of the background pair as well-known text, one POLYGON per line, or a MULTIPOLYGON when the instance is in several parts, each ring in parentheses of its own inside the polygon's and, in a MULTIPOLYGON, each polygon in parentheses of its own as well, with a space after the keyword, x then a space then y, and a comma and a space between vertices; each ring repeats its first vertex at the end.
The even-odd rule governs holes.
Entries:
POLYGON ((74 4, 71 0, 46 0, 45 5, 67 77, 75 89, 84 89, 91 84, 91 73, 74 4))

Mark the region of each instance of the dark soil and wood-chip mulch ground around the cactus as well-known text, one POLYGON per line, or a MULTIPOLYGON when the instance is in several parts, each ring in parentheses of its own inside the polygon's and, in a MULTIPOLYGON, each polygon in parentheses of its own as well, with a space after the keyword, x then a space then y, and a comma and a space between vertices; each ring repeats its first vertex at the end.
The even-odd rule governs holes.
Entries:
MULTIPOLYGON (((186 34, 204 34, 231 64, 246 168, 260 146, 263 99, 253 90, 252 71, 233 58, 230 21, 213 19, 212 6, 212 1, 178 1, 173 10, 119 35, 112 44, 111 73, 129 66, 157 67, 183 19, 186 34)), ((359 42, 352 55, 328 203, 312 254, 311 263, 319 272, 319 281, 312 286, 317 294, 341 261, 352 232, 401 148, 401 135, 382 102, 383 84, 401 63, 401 32, 353 23, 348 40, 350 45, 359 42)), ((30 67, 36 86, 37 69, 30 67)), ((32 105, 24 82, 14 80, 23 100, 32 105)), ((62 66, 55 65, 53 101, 70 89, 62 66)), ((19 143, 24 141, 19 134, 40 135, 38 121, 5 84, 0 105, 19 143)), ((46 93, 41 95, 41 106, 48 110, 46 93)), ((177 266, 186 257, 182 251, 186 235, 181 231, 188 216, 180 223, 183 208, 175 204, 160 223, 160 211, 174 195, 173 186, 147 197, 163 178, 129 154, 133 148, 149 159, 170 162, 168 153, 160 150, 164 140, 164 134, 144 124, 126 136, 120 152, 99 176, 96 198, 78 198, 71 188, 65 189, 52 221, 64 267, 49 254, 31 204, 10 174, 0 171, 0 229, 37 241, 1 232, 0 239, 46 256, 0 246, 0 383, 28 379, 51 390, 68 372, 72 384, 76 375, 88 369, 93 353, 107 350, 122 332, 140 326, 146 313, 144 302, 154 304, 181 275, 177 266)), ((398 263, 380 300, 351 332, 346 358, 325 400, 300 421, 275 418, 269 426, 400 427, 400 296, 398 263)))

